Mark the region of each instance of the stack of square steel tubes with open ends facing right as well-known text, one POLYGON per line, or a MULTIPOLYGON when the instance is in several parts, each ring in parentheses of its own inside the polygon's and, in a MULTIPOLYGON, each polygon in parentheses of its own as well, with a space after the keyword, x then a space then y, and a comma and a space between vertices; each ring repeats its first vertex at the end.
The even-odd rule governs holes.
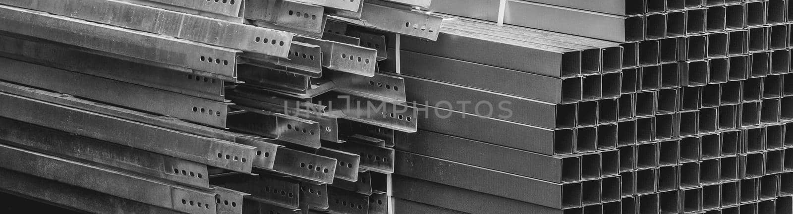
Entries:
POLYGON ((508 1, 504 27, 499 1, 433 2, 465 17, 401 40, 429 117, 398 136, 397 212, 791 213, 788 2, 587 2, 508 1))

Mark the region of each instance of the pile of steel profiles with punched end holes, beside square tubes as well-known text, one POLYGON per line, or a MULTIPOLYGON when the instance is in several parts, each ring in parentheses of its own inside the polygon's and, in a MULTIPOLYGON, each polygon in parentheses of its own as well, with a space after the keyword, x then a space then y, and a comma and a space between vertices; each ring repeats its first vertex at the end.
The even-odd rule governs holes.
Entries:
POLYGON ((0 0, 0 191, 90 213, 391 213, 395 133, 417 116, 376 65, 386 35, 436 39, 442 17, 414 10, 430 2, 0 0))

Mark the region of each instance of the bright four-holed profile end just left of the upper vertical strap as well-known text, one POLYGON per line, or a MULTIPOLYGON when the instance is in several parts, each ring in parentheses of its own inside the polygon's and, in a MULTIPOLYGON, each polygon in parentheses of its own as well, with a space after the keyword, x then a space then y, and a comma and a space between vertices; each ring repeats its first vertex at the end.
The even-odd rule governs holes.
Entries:
POLYGON ((319 45, 322 50, 322 63, 328 69, 367 77, 374 76, 377 50, 306 36, 295 36, 294 40, 319 45))

